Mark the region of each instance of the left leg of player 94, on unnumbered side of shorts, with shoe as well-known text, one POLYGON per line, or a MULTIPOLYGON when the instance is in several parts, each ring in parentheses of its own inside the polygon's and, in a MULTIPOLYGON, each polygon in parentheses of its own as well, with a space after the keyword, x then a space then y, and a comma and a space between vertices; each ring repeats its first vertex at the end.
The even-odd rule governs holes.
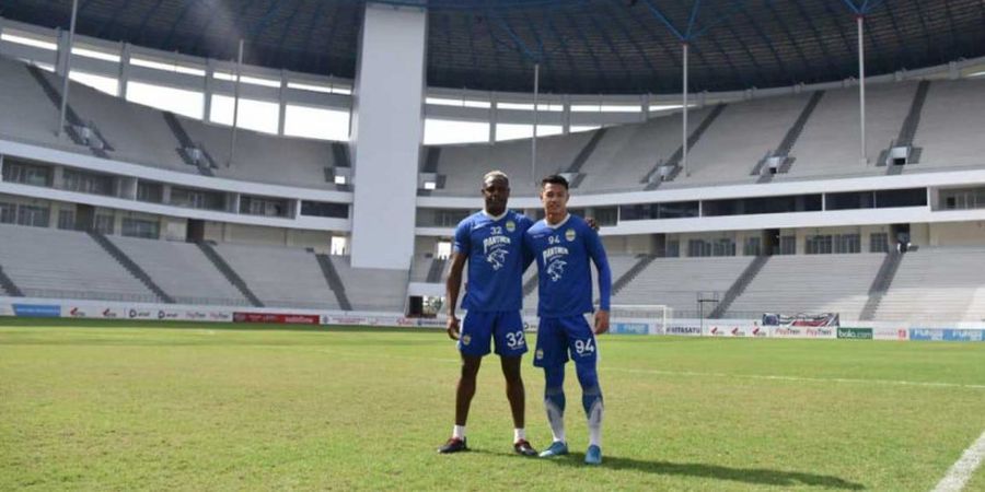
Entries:
POLYGON ((568 454, 565 436, 565 363, 568 361, 567 341, 557 319, 541 318, 537 328, 537 349, 534 365, 544 368, 544 409, 554 437, 542 457, 568 454))

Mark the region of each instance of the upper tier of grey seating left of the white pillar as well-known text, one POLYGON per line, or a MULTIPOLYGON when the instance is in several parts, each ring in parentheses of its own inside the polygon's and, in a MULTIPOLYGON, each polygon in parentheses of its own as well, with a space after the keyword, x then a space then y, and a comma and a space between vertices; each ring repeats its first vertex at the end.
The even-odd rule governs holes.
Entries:
MULTIPOLYGON (((55 136, 58 127, 58 96, 48 97, 43 83, 32 74, 38 73, 49 87, 60 91, 58 75, 7 58, 0 58, 0 138, 44 144, 60 150, 89 153, 84 145, 72 143, 68 137, 55 136)), ((325 167, 348 166, 337 163, 332 142, 278 137, 240 129, 234 159, 230 165, 231 128, 174 116, 173 128, 165 113, 126 102, 101 93, 83 84, 72 83, 69 106, 83 122, 92 122, 109 144, 109 159, 200 174, 187 164, 179 150, 184 147, 178 134, 184 131, 196 147, 212 157, 212 175, 266 184, 305 188, 335 189, 326 181, 325 167), (177 133, 176 133, 177 131, 177 133)), ((169 116, 171 117, 171 116, 169 116)))

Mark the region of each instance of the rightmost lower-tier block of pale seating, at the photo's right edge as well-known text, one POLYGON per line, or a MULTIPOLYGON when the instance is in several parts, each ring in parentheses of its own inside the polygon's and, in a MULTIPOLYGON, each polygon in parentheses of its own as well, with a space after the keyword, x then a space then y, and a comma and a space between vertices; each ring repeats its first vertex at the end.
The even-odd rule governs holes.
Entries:
POLYGON ((920 248, 903 255, 876 319, 981 321, 985 318, 985 248, 920 248))

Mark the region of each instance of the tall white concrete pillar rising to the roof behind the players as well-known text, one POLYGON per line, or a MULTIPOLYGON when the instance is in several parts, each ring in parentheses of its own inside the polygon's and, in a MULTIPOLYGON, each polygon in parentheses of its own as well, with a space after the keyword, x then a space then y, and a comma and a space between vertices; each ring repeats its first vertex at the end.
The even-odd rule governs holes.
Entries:
POLYGON ((425 8, 366 5, 354 92, 356 268, 410 267, 427 28, 425 8))

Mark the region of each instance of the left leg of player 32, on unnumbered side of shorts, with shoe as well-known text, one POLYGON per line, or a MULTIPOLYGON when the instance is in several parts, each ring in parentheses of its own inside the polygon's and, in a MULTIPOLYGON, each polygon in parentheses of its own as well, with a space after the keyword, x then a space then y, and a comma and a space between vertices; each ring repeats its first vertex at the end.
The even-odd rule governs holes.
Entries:
POLYGON ((457 453, 468 449, 465 440, 465 423, 468 421, 468 409, 475 396, 476 376, 483 363, 483 356, 489 353, 491 324, 485 313, 468 313, 462 321, 459 336, 459 351, 462 354, 462 368, 459 385, 455 388, 455 426, 452 436, 438 448, 438 453, 457 453))

